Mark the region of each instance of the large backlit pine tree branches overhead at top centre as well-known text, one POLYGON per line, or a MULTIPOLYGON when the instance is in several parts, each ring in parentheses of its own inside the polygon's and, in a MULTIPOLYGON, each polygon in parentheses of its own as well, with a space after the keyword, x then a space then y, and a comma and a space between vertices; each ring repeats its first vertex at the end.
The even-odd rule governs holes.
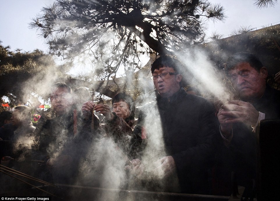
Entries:
POLYGON ((141 55, 202 43, 206 20, 224 18, 224 8, 207 0, 57 0, 31 27, 51 54, 90 65, 95 80, 107 87, 119 69, 126 76, 139 69, 141 55))

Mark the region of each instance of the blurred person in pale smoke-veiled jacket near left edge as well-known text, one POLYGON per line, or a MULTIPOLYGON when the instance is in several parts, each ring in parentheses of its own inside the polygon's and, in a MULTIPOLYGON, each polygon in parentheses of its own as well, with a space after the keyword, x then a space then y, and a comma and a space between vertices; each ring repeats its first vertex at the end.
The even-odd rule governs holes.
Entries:
MULTIPOLYGON (((13 127, 16 128, 13 135, 10 136, 13 143, 12 146, 6 147, 4 158, 8 160, 1 158, 1 165, 32 175, 31 153, 35 148, 33 132, 36 127, 31 122, 31 109, 24 105, 16 106, 11 121, 13 127)), ((31 186, 1 173, 1 193, 27 188, 31 188, 31 186)))

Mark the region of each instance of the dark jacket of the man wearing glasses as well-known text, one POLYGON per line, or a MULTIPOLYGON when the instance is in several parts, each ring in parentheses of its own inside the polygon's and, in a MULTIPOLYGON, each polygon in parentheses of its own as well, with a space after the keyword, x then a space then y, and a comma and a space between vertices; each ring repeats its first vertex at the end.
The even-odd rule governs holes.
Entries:
POLYGON ((142 138, 143 128, 146 130, 147 144, 151 135, 157 132, 153 123, 158 118, 153 115, 158 114, 152 114, 157 110, 165 154, 171 155, 176 162, 181 192, 208 194, 207 170, 214 156, 212 139, 219 131, 212 104, 203 97, 188 95, 183 89, 169 98, 157 95, 155 102, 141 108, 138 125, 134 129, 134 134, 142 138))

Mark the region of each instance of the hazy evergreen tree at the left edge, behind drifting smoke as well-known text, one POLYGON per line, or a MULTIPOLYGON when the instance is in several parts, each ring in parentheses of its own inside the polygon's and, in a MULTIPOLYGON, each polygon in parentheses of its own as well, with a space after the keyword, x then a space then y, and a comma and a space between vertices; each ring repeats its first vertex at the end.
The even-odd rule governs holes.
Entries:
POLYGON ((42 86, 41 81, 47 74, 59 74, 52 56, 38 49, 13 52, 9 46, 0 44, 0 98, 6 96, 16 105, 26 103, 32 93, 45 95, 42 89, 46 86, 42 86))

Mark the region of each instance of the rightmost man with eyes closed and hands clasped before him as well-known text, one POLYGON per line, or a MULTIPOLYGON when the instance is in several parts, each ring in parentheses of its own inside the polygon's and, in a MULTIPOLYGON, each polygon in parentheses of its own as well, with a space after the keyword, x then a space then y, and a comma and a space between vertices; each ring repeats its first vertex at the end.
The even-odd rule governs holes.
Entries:
POLYGON ((239 97, 224 102, 217 114, 222 142, 217 176, 220 185, 227 187, 219 194, 230 195, 231 172, 235 172, 238 185, 252 190, 252 180, 256 181, 256 127, 260 120, 280 118, 280 91, 266 85, 267 69, 252 53, 232 55, 225 71, 239 97))

